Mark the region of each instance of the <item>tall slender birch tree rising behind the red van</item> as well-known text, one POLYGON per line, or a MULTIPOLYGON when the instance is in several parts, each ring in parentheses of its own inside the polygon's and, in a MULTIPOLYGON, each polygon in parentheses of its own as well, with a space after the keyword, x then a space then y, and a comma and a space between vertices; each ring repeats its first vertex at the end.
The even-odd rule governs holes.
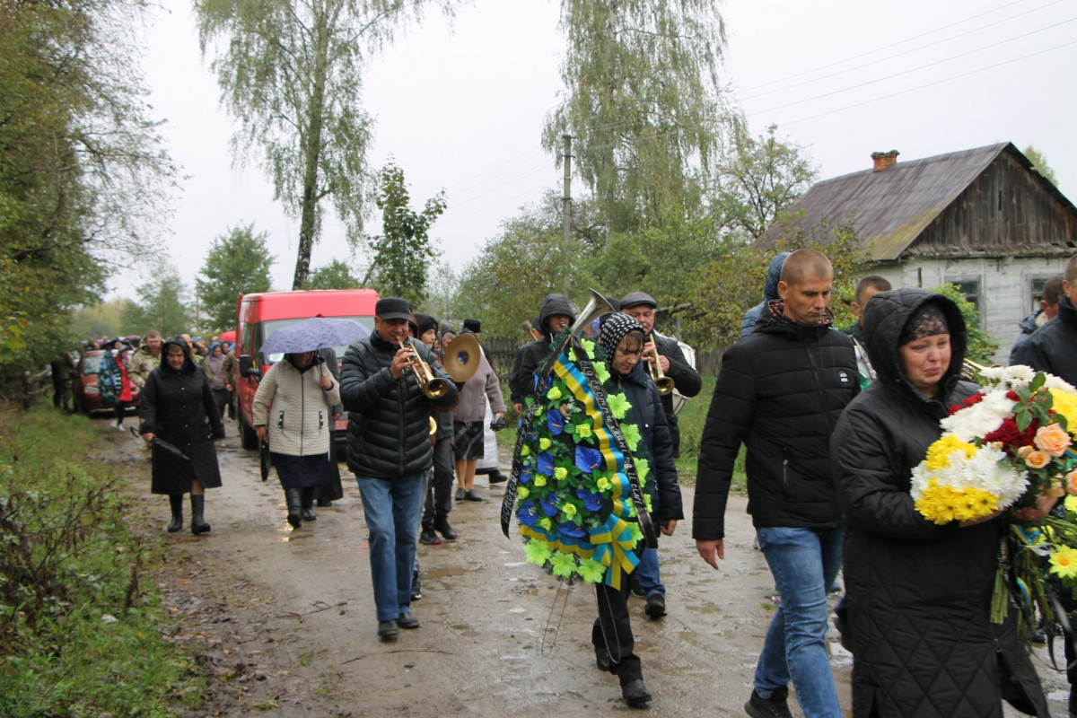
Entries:
MULTIPOLYGON (((369 56, 434 0, 195 0, 202 53, 221 101, 239 123, 236 159, 255 149, 275 199, 298 219, 292 288, 304 287, 322 200, 362 238, 373 121, 362 107, 369 56)), ((442 6, 448 12, 450 0, 442 6)))

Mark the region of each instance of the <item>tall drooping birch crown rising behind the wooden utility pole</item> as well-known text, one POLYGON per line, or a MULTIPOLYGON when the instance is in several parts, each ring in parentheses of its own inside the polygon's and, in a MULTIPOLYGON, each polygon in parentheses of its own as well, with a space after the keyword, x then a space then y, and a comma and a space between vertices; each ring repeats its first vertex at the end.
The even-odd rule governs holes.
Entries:
POLYGON ((611 230, 695 209, 719 142, 718 0, 562 0, 563 101, 543 145, 573 154, 611 230))

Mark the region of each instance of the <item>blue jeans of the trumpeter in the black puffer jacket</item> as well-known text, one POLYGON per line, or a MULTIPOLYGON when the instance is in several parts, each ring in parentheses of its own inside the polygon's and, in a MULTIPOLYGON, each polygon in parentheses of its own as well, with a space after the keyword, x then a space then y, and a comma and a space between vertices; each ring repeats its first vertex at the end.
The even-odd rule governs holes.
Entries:
POLYGON ((411 606, 411 566, 422 509, 422 474, 394 479, 356 476, 370 531, 370 580, 379 621, 411 606))

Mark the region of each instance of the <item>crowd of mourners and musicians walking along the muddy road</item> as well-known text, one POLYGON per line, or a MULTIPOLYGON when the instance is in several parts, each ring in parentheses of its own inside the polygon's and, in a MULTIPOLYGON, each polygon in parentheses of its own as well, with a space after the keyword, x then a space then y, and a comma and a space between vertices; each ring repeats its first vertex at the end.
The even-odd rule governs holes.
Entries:
MULTIPOLYGON (((1004 623, 989 620, 1004 517, 940 526, 917 512, 909 493, 912 468, 941 433, 939 420, 978 391, 962 378, 962 313, 943 295, 870 276, 856 287, 857 323, 838 332, 827 311, 833 280, 819 252, 774 258, 765 299, 724 353, 698 447, 691 535, 699 555, 714 568, 725 558, 726 504, 743 449, 757 548, 781 596, 744 709, 753 718, 789 717, 792 687, 803 715, 842 715, 826 645, 828 594, 840 572, 845 593, 836 624, 854 659, 853 715, 1001 716, 1005 700, 1047 716, 1016 611, 1004 623)), ((1075 301, 1077 257, 1047 283, 1040 311, 1022 321, 1011 361, 1077 383, 1075 301)), ((546 391, 537 370, 558 335, 572 327, 595 339, 606 357, 604 381, 630 398, 629 420, 641 427, 654 477, 649 511, 669 536, 684 518, 674 463, 681 433, 673 395, 656 380, 669 378, 683 396, 697 395, 702 382, 682 346, 656 332, 652 296, 633 291, 610 304, 581 327, 567 297, 547 295, 526 323, 533 340, 517 351, 507 406, 520 414, 529 397, 546 391)), ((478 320, 462 328, 480 330, 478 320)), ((317 518, 321 492, 326 504, 339 497, 331 431, 348 412, 348 468, 369 531, 384 640, 420 627, 411 610, 421 597, 416 545, 457 539, 453 502, 484 501, 474 484, 482 434, 505 424, 501 382, 485 350, 465 381, 446 372, 454 336, 406 299, 382 297, 373 332, 348 347, 339 371, 332 350, 285 353, 254 399, 254 427, 268 441, 294 529, 317 518), (416 379, 423 365, 437 391, 416 379)), ((139 431, 152 447, 152 491, 170 498, 169 532, 183 525, 185 494, 192 532, 210 531, 205 490, 221 485, 213 439, 224 436, 234 354, 215 340, 198 347, 149 332, 137 349, 115 348, 121 385, 141 389, 139 431)), ((503 479, 499 473, 490 481, 503 479)), ((1053 501, 1040 497, 1020 518, 1046 516, 1053 501)), ((627 599, 630 591, 644 597, 653 619, 667 604, 657 548, 640 548, 638 558, 631 575, 596 586, 591 638, 596 665, 618 677, 628 705, 645 707, 653 699, 627 599)), ((1065 647, 1073 663, 1072 643, 1065 647)), ((1071 674, 1077 679, 1077 670, 1071 674)), ((1077 709, 1077 692, 1069 708, 1077 709)))

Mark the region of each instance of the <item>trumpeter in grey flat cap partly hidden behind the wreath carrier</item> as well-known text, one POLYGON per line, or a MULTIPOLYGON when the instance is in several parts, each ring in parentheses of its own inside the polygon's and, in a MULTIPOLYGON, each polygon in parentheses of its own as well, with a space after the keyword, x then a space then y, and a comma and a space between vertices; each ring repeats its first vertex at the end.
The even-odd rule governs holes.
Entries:
MULTIPOLYGON (((658 302, 654 297, 643 292, 632 292, 626 294, 620 299, 620 310, 634 318, 642 326, 647 336, 647 343, 643 347, 644 362, 652 367, 660 368, 660 372, 648 369, 652 378, 665 376, 667 383, 672 382, 673 386, 682 396, 696 396, 702 388, 702 380, 699 374, 684 358, 684 352, 676 343, 676 339, 663 337, 655 332, 655 315, 658 302)), ((681 428, 677 426, 676 414, 673 413, 673 392, 661 393, 662 409, 666 410, 666 423, 669 425, 670 438, 673 442, 673 456, 681 455, 681 428)), ((647 600, 644 609, 651 618, 661 618, 666 615, 666 587, 662 586, 661 576, 658 569, 658 551, 656 549, 644 549, 640 557, 640 565, 633 573, 633 587, 637 593, 647 600)))

